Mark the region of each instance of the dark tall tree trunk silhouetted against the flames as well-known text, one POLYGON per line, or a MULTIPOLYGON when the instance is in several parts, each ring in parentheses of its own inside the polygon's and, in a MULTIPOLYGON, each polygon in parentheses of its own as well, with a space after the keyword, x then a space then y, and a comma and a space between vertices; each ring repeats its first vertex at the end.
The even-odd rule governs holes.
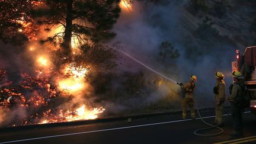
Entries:
POLYGON ((64 31, 64 41, 62 44, 63 53, 66 56, 71 55, 71 37, 72 37, 72 4, 73 0, 66 1, 66 28, 64 31))

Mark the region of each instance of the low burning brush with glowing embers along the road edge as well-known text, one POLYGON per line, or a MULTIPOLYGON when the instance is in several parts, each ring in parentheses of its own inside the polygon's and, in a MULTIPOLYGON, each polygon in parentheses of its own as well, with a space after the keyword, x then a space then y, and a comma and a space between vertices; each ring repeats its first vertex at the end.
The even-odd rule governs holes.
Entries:
MULTIPOLYGON (((104 108, 93 108, 77 101, 71 107, 61 108, 62 104, 70 103, 76 95, 73 92, 87 90, 84 81, 65 75, 59 81, 52 81, 49 77, 30 76, 25 72, 20 74, 18 85, 7 81, 6 71, 1 69, 0 105, 8 113, 21 109, 27 116, 15 114, 15 121, 4 121, 5 124, 19 126, 24 124, 54 123, 74 120, 96 119, 103 113, 104 108), (79 82, 78 82, 79 81, 79 82), (65 85, 65 86, 63 86, 65 85)), ((52 74, 52 73, 51 73, 52 74)), ((78 94, 78 93, 76 93, 78 94)))

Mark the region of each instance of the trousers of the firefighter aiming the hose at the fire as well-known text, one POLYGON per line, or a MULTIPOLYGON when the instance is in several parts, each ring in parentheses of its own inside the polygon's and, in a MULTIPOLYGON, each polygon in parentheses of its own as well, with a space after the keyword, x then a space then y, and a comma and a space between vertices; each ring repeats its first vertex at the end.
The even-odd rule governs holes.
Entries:
POLYGON ((190 114, 192 119, 196 119, 196 114, 194 112, 194 100, 193 97, 185 97, 181 102, 183 108, 183 119, 187 118, 187 105, 190 107, 190 114))

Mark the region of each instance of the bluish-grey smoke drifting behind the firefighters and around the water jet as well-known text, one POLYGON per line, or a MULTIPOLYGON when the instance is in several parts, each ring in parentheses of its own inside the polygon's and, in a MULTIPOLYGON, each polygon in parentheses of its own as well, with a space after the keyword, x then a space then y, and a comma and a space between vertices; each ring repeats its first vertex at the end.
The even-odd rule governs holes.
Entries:
MULTIPOLYGON (((196 75, 198 82, 195 95, 199 107, 213 106, 215 98, 212 88, 216 82, 215 72, 223 72, 226 87, 232 82, 230 73, 234 44, 225 40, 210 39, 208 41, 195 37, 194 33, 203 18, 194 17, 186 7, 188 7, 187 1, 169 1, 168 4, 166 2, 159 2, 159 4, 146 1, 135 2, 132 12, 122 12, 114 27, 117 36, 112 42, 121 42, 124 46, 121 49, 123 52, 174 81, 188 82, 190 75, 196 75), (165 63, 162 63, 162 60, 159 60, 161 59, 159 58, 159 45, 165 40, 170 41, 179 50, 181 56, 175 60, 167 59, 165 63)), ((120 69, 123 71, 148 71, 125 55, 121 63, 120 69)), ((145 76, 145 78, 152 79, 153 76, 145 76)), ((180 88, 177 85, 164 84, 161 87, 164 88, 157 89, 151 95, 142 97, 141 100, 133 98, 125 104, 156 103, 159 98, 163 98, 159 95, 168 95, 165 94, 168 89, 171 89, 176 100, 178 99, 180 88)))

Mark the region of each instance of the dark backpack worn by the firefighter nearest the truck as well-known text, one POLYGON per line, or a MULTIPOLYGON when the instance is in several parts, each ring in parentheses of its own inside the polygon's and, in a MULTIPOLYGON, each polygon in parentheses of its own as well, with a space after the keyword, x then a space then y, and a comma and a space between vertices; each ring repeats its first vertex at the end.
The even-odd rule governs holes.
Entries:
POLYGON ((247 89, 245 88, 244 85, 239 84, 239 87, 241 87, 242 89, 242 94, 238 95, 235 100, 234 100, 234 104, 242 106, 242 107, 249 107, 250 105, 250 98, 247 94, 247 89))

